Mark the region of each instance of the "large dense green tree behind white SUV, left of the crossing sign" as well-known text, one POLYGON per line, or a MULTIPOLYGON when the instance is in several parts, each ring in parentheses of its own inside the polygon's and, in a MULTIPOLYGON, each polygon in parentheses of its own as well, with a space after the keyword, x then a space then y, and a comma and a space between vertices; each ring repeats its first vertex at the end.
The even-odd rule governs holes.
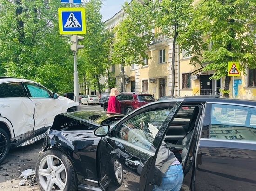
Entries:
POLYGON ((0 0, 1 76, 35 80, 55 92, 71 90, 73 59, 59 34, 60 6, 55 0, 0 0))

